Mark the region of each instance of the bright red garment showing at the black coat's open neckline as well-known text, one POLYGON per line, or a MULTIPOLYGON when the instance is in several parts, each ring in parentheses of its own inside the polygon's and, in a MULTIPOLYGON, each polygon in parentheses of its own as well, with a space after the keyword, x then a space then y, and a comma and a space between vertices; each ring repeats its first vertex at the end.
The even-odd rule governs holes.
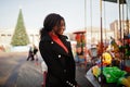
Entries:
POLYGON ((49 35, 57 45, 60 45, 68 53, 68 49, 65 47, 65 45, 61 41, 61 39, 56 35, 53 35, 52 33, 49 33, 49 35))

